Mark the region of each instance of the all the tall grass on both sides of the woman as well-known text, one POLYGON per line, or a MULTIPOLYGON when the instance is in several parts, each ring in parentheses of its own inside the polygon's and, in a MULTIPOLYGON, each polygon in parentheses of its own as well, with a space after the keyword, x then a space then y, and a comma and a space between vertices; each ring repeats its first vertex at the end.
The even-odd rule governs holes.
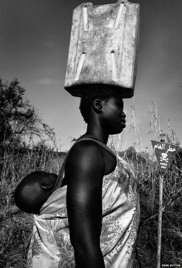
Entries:
MULTIPOLYGON (((132 131, 136 140, 134 149, 126 150, 123 135, 110 136, 108 145, 113 151, 129 162, 135 170, 138 181, 141 220, 136 245, 135 268, 151 268, 156 264, 157 214, 159 169, 153 149, 146 151, 135 119, 134 103, 132 131)), ((150 138, 179 144, 175 133, 168 129, 160 130, 157 108, 152 103, 149 113, 150 138)), ((41 142, 31 147, 20 145, 18 148, 3 147, 0 156, 1 165, 1 204, 0 204, 0 267, 25 267, 26 255, 32 232, 33 215, 25 214, 16 208, 13 192, 21 179, 35 170, 44 170, 58 174, 65 153, 59 152, 54 145, 41 142)), ((164 176, 163 214, 162 214, 162 264, 181 264, 182 266, 182 150, 178 150, 175 159, 164 176)))

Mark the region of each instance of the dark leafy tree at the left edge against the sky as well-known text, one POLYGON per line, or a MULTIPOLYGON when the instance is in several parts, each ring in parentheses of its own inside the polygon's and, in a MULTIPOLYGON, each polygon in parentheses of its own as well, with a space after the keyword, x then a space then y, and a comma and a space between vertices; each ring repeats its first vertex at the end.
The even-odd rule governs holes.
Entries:
POLYGON ((23 137, 53 139, 55 133, 38 116, 34 106, 23 98, 25 89, 17 79, 3 82, 0 78, 0 143, 20 142, 23 137))

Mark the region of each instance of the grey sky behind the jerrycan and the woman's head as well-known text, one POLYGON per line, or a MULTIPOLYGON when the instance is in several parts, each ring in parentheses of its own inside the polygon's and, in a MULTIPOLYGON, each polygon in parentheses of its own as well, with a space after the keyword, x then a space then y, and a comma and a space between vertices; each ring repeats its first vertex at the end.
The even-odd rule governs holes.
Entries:
MULTIPOLYGON (((116 3, 94 0, 93 5, 116 3)), ((182 1, 135 0, 140 4, 139 57, 134 90, 134 116, 144 147, 150 131, 152 100, 160 127, 169 126, 182 142, 182 1)), ((74 8, 82 1, 1 0, 0 77, 17 78, 26 97, 45 123, 54 128, 62 150, 83 135, 86 124, 79 110, 80 98, 64 89, 74 8)), ((126 124, 123 148, 136 142, 131 130, 132 100, 124 99, 126 124)), ((152 106, 153 107, 153 106, 152 106)), ((154 107, 152 108, 154 110, 154 107)))

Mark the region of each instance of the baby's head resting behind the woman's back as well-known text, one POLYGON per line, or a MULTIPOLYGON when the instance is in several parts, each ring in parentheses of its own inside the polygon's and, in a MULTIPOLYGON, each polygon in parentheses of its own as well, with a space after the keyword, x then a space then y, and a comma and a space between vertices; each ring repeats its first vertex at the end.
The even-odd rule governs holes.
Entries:
POLYGON ((34 171, 24 177, 14 193, 15 204, 26 213, 39 214, 42 205, 52 194, 57 175, 34 171))

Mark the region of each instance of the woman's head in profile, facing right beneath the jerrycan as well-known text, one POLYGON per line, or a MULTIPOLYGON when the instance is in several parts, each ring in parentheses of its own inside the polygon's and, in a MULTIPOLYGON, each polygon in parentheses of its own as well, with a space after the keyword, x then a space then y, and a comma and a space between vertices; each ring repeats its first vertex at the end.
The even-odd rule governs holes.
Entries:
POLYGON ((79 108, 88 125, 97 120, 108 134, 120 133, 125 128, 123 101, 116 89, 97 85, 88 87, 79 108))

